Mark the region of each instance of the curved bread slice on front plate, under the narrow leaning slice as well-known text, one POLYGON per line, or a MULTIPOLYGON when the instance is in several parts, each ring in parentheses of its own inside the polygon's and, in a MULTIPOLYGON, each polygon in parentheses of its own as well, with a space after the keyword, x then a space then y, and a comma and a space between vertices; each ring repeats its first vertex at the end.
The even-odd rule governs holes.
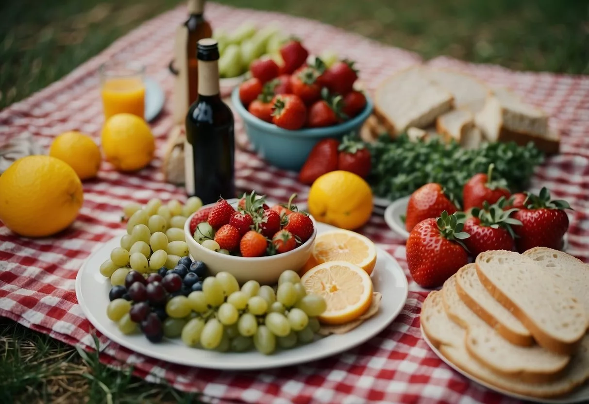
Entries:
POLYGON ((456 275, 444 283, 442 302, 448 317, 466 329, 466 350, 497 373, 528 382, 545 382, 557 378, 570 360, 568 355, 552 353, 538 345, 522 347, 504 339, 462 302, 456 289, 456 275))

